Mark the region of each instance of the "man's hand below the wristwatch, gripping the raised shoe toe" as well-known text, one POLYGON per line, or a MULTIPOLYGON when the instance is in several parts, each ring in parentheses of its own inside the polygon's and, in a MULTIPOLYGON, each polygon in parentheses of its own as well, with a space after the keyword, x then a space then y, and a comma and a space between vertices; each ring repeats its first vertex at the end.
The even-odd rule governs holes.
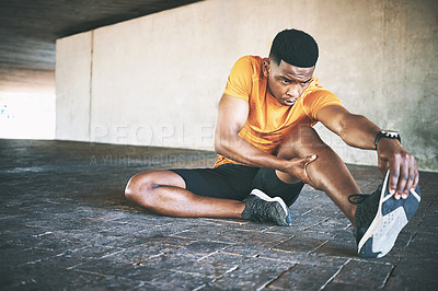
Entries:
POLYGON ((382 138, 377 146, 379 168, 390 170, 389 190, 395 199, 406 199, 419 182, 415 158, 403 149, 399 140, 382 138))

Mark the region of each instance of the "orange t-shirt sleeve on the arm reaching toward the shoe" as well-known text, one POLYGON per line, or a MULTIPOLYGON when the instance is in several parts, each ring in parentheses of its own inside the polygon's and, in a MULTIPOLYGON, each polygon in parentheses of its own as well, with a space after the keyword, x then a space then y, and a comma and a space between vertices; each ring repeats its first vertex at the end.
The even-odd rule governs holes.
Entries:
POLYGON ((306 114, 313 120, 318 121, 318 112, 330 105, 341 105, 341 100, 330 91, 320 90, 310 93, 302 102, 306 114))

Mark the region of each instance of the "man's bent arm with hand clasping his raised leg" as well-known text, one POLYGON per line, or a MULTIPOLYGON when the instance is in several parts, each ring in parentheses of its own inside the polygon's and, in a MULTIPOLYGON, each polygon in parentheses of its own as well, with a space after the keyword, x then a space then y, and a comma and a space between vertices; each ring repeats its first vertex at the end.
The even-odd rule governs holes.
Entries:
POLYGON ((255 166, 268 167, 289 173, 312 185, 306 173, 306 165, 314 159, 283 160, 252 146, 239 136, 250 112, 247 101, 223 94, 219 102, 218 121, 215 133, 217 153, 233 161, 255 166))

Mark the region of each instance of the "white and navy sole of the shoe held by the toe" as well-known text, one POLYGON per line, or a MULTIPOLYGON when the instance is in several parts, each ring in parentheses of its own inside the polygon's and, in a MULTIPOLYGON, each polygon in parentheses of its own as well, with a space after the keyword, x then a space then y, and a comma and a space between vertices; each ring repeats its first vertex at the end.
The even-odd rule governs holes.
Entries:
POLYGON ((388 191, 389 171, 383 181, 379 209, 367 232, 359 241, 358 254, 364 258, 380 258, 394 246, 399 233, 417 211, 419 188, 411 190, 406 199, 396 200, 388 191))

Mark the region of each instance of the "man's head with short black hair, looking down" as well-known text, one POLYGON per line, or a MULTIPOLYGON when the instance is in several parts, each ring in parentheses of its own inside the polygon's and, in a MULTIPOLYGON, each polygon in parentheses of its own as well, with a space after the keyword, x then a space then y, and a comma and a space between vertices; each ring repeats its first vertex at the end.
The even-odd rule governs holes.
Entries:
POLYGON ((285 30, 274 38, 269 61, 264 65, 269 93, 291 106, 309 85, 319 56, 316 42, 309 34, 285 30))

